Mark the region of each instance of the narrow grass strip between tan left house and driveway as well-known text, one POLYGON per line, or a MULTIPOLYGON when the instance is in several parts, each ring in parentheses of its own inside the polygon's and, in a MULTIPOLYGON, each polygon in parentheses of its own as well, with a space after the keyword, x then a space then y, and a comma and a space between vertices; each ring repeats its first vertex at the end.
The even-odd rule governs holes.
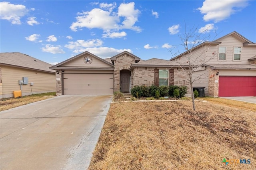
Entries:
POLYGON ((21 98, 5 98, 1 99, 0 101, 0 111, 12 109, 14 107, 22 106, 22 105, 27 105, 29 103, 33 103, 36 101, 41 101, 45 99, 49 99, 49 97, 54 97, 56 95, 56 92, 51 92, 51 93, 41 93, 41 94, 35 94, 35 95, 29 95, 29 96, 24 96, 21 98))

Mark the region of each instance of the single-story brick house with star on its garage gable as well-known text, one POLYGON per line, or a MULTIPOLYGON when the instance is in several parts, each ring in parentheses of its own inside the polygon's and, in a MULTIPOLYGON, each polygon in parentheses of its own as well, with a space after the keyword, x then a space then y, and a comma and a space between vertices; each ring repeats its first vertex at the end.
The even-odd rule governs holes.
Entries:
POLYGON ((141 61, 128 51, 107 59, 85 51, 50 69, 56 71, 58 95, 129 93, 134 85, 190 87, 187 75, 175 61, 156 58, 141 61))

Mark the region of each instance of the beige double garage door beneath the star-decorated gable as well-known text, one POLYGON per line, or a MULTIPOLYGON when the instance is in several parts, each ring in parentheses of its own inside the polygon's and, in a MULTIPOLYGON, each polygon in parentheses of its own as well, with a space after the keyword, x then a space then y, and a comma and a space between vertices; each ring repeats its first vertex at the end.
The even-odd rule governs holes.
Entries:
POLYGON ((64 73, 64 95, 113 94, 113 74, 64 73))

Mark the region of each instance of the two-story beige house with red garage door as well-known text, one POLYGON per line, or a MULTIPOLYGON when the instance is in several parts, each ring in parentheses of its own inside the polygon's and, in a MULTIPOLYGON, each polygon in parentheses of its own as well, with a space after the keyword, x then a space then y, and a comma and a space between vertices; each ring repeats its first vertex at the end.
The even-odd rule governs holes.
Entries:
MULTIPOLYGON (((202 66, 192 73, 193 87, 212 97, 256 96, 256 43, 232 32, 191 51, 190 61, 202 66)), ((170 60, 187 63, 188 52, 170 60)))

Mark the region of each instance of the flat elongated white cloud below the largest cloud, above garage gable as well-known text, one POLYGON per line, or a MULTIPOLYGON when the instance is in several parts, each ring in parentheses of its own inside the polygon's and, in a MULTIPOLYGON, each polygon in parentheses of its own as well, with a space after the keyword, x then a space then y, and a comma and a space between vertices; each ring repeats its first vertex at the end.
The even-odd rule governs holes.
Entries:
POLYGON ((93 39, 93 40, 77 40, 76 42, 68 42, 65 47, 68 49, 80 50, 88 47, 97 47, 103 44, 102 40, 93 39))

